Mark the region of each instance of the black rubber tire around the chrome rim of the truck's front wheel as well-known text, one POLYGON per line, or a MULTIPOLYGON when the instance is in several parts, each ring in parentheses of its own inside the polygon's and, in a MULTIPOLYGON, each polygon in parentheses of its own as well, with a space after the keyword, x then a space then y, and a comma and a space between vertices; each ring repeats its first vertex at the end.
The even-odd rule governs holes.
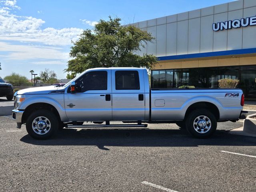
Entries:
MULTIPOLYGON (((37 121, 37 122, 39 122, 39 121, 37 121)), ((34 124, 34 126, 35 125, 36 124, 34 124)), ((26 121, 26 130, 27 130, 28 134, 32 138, 38 139, 38 140, 45 140, 45 139, 48 139, 48 138, 54 136, 54 134, 56 134, 56 132, 58 130, 58 127, 59 127, 59 120, 58 120, 57 116, 49 110, 35 111, 28 117, 28 119, 26 121), (45 123, 46 123, 46 131, 45 131, 46 133, 44 131, 42 131, 43 134, 39 134, 38 130, 34 131, 32 128, 33 121, 40 116, 48 119, 48 121, 44 118, 41 119, 42 122, 44 122, 44 120, 45 120, 45 123), (48 122, 50 122, 50 128, 47 130, 48 122), (38 133, 36 133, 36 132, 38 132, 38 133)))

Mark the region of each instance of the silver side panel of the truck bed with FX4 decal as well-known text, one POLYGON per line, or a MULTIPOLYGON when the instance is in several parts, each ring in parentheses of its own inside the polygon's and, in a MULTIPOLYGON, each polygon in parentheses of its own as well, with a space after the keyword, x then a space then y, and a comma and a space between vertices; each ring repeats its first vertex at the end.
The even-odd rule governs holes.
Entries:
POLYGON ((241 96, 240 89, 152 90, 151 120, 183 120, 188 107, 197 102, 214 104, 220 120, 238 119, 243 109, 241 96), (239 93, 239 96, 225 97, 226 93, 239 93), (164 106, 156 106, 156 100, 164 100, 164 106))

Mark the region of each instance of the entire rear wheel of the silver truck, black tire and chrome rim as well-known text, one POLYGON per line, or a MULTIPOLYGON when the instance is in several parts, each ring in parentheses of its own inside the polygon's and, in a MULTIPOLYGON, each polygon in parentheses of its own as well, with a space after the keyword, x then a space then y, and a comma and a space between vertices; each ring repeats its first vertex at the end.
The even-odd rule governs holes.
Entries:
POLYGON ((186 129, 196 138, 209 138, 214 134, 217 128, 217 120, 214 114, 207 109, 196 109, 190 112, 186 117, 186 129), (197 119, 199 117, 200 120, 197 119), (205 120, 203 119, 205 118, 205 120), (200 121, 201 125, 200 126, 200 121), (194 122, 196 124, 194 124, 194 122), (206 126, 205 126, 206 125, 206 126), (207 127, 209 127, 207 129, 207 127), (198 131, 196 129, 198 128, 198 131))

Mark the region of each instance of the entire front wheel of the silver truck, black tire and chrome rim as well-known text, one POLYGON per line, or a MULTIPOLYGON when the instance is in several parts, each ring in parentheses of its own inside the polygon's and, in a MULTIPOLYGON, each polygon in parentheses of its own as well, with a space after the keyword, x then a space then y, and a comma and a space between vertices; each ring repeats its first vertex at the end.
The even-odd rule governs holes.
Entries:
POLYGON ((48 110, 33 112, 26 121, 26 130, 34 139, 48 139, 58 130, 59 121, 56 115, 48 110))

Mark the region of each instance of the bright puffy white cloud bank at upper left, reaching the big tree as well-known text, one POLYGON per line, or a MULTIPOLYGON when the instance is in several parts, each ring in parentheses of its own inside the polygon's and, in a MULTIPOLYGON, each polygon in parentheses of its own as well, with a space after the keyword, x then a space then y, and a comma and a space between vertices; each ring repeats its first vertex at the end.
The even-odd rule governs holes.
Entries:
POLYGON ((7 8, 0 8, 0 40, 64 46, 70 45, 71 40, 77 40, 78 35, 83 31, 80 28, 42 29, 44 23, 45 21, 40 18, 17 16, 10 13, 7 8))

